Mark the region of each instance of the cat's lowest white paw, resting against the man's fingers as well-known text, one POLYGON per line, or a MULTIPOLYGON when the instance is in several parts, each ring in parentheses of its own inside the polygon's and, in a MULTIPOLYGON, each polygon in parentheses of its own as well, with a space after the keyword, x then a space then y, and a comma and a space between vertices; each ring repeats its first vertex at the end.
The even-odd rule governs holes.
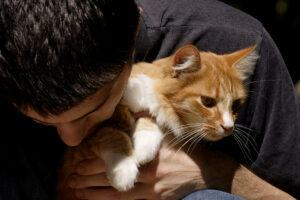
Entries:
POLYGON ((132 157, 123 157, 116 161, 107 172, 111 185, 119 191, 128 191, 133 188, 139 174, 136 160, 132 157))

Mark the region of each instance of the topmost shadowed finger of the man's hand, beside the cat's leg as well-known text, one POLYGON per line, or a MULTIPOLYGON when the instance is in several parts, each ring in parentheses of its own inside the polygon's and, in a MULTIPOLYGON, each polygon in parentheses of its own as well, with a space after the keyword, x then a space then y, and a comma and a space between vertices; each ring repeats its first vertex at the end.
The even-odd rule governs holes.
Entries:
POLYGON ((105 172, 105 163, 100 158, 84 160, 79 163, 76 172, 80 175, 93 175, 105 172))

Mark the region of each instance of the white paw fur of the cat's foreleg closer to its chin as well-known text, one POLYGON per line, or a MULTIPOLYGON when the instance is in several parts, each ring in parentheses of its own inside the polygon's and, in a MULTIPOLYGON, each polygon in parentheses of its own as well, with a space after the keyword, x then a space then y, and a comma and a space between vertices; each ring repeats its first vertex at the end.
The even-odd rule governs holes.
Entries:
POLYGON ((163 135, 159 129, 140 130, 134 135, 134 156, 139 164, 152 161, 159 148, 163 135))

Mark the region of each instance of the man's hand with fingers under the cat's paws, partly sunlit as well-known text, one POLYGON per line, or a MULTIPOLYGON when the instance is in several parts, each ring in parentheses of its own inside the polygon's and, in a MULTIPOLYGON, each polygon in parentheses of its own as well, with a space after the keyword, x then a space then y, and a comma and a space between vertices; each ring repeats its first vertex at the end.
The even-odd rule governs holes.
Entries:
POLYGON ((78 175, 72 176, 70 186, 76 188, 79 199, 180 199, 204 187, 198 164, 185 152, 161 148, 156 160, 140 168, 135 187, 118 192, 110 187, 102 160, 87 160, 79 164, 78 175))

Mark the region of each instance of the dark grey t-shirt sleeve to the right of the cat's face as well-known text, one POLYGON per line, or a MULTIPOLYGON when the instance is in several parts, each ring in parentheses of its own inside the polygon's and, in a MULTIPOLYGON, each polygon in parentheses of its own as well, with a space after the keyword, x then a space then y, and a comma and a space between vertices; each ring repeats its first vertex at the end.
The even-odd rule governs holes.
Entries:
POLYGON ((251 167, 266 180, 300 196, 299 99, 284 60, 266 30, 249 91, 244 122, 259 144, 251 167))

